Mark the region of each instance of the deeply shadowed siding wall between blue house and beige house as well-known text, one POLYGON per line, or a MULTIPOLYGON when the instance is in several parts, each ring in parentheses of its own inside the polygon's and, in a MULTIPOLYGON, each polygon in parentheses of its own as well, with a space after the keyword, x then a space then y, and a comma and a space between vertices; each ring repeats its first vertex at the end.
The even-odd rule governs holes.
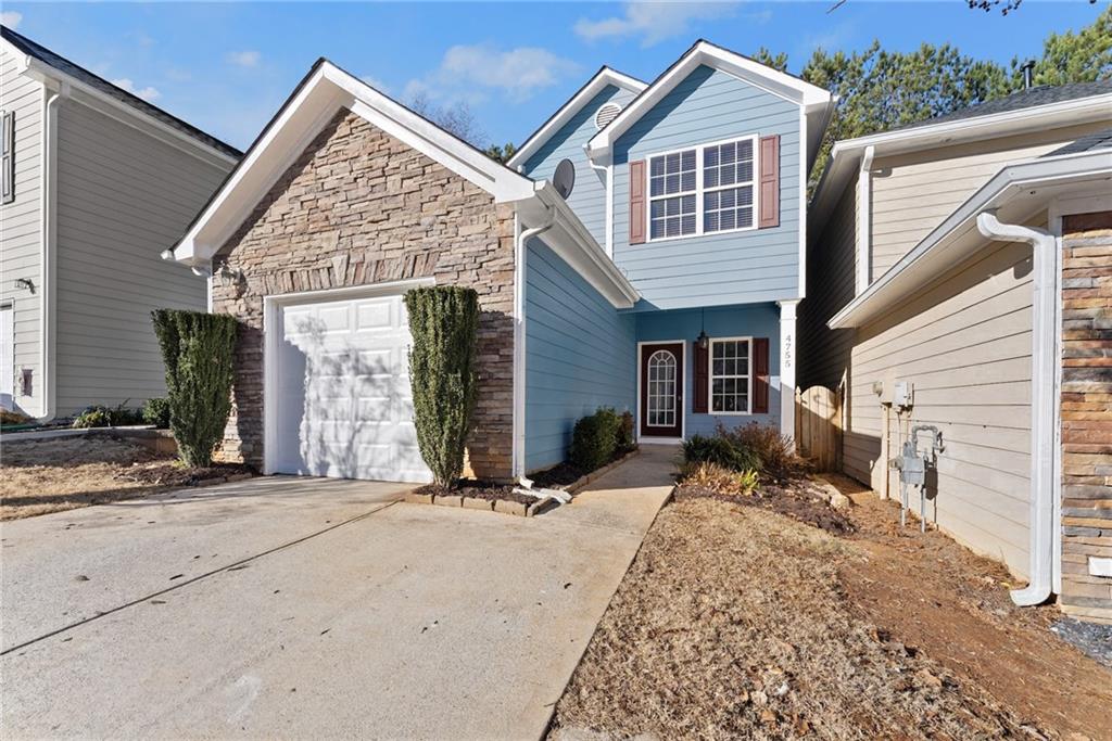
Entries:
POLYGON ((852 329, 831 330, 830 318, 854 297, 857 264, 857 189, 854 178, 825 224, 807 243, 807 297, 797 318, 801 389, 824 385, 837 390, 850 367, 852 329))

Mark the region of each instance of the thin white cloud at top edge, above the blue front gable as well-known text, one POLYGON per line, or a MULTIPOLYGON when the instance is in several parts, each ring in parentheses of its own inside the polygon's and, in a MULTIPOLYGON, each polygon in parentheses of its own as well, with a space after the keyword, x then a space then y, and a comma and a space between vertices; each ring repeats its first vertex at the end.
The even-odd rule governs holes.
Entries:
POLYGON ((651 47, 664 39, 686 34, 692 21, 732 16, 735 7, 734 2, 626 2, 619 17, 580 18, 575 23, 575 32, 585 41, 641 37, 642 46, 651 47))

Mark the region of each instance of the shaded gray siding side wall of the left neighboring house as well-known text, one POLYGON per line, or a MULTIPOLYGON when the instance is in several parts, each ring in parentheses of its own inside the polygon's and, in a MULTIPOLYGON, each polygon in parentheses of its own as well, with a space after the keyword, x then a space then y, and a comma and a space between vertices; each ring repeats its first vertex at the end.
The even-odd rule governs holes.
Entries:
POLYGON ((150 312, 207 306, 162 260, 224 180, 217 164, 75 101, 59 109, 57 411, 165 393, 150 312))

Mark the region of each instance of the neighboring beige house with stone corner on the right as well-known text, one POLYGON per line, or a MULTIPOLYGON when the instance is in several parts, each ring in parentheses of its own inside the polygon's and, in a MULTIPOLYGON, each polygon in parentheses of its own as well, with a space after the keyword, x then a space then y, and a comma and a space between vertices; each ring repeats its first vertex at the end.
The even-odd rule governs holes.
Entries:
POLYGON ((1112 82, 1093 82, 837 142, 812 204, 798 371, 843 399, 845 473, 897 497, 888 460, 936 425, 927 519, 1029 580, 1016 602, 1054 593, 1103 620, 1110 127, 1112 82))

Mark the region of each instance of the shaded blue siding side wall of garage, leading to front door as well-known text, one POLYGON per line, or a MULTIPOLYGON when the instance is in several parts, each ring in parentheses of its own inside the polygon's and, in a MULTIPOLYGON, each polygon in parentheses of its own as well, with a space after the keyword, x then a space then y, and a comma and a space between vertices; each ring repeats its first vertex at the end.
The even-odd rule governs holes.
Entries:
POLYGON ((636 318, 618 313, 539 239, 526 257, 525 468, 565 460, 575 421, 633 410, 636 318))

